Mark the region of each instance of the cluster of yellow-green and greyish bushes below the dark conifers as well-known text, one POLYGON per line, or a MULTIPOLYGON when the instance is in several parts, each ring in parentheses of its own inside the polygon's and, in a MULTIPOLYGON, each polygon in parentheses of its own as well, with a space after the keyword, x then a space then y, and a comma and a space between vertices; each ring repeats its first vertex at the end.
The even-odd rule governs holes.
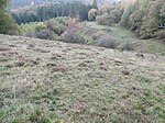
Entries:
POLYGON ((30 23, 21 25, 22 33, 29 37, 42 40, 55 40, 66 30, 65 19, 53 19, 45 22, 30 23))

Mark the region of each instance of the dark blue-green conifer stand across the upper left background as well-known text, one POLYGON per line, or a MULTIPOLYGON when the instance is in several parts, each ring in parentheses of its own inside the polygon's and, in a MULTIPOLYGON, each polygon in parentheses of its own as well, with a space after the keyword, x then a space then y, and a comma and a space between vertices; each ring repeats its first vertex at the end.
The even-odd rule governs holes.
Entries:
MULTIPOLYGON (((96 8, 96 3, 94 4, 84 4, 79 1, 74 2, 58 2, 51 3, 45 5, 38 5, 33 8, 30 12, 26 10, 24 12, 13 12, 11 13, 13 19, 18 24, 29 23, 29 22, 41 22, 45 20, 50 20, 57 16, 72 16, 79 18, 80 20, 88 20, 88 11, 91 8, 96 8)), ((30 8, 31 9, 31 8, 30 8)))

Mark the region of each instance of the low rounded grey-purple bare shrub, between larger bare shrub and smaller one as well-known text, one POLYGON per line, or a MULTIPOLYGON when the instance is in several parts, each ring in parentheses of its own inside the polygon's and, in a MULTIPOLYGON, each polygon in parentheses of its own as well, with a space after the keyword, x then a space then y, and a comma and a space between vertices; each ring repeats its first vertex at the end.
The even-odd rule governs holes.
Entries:
POLYGON ((106 48, 117 48, 118 43, 111 36, 106 35, 106 36, 102 36, 100 40, 98 40, 97 45, 101 47, 106 47, 106 48))

